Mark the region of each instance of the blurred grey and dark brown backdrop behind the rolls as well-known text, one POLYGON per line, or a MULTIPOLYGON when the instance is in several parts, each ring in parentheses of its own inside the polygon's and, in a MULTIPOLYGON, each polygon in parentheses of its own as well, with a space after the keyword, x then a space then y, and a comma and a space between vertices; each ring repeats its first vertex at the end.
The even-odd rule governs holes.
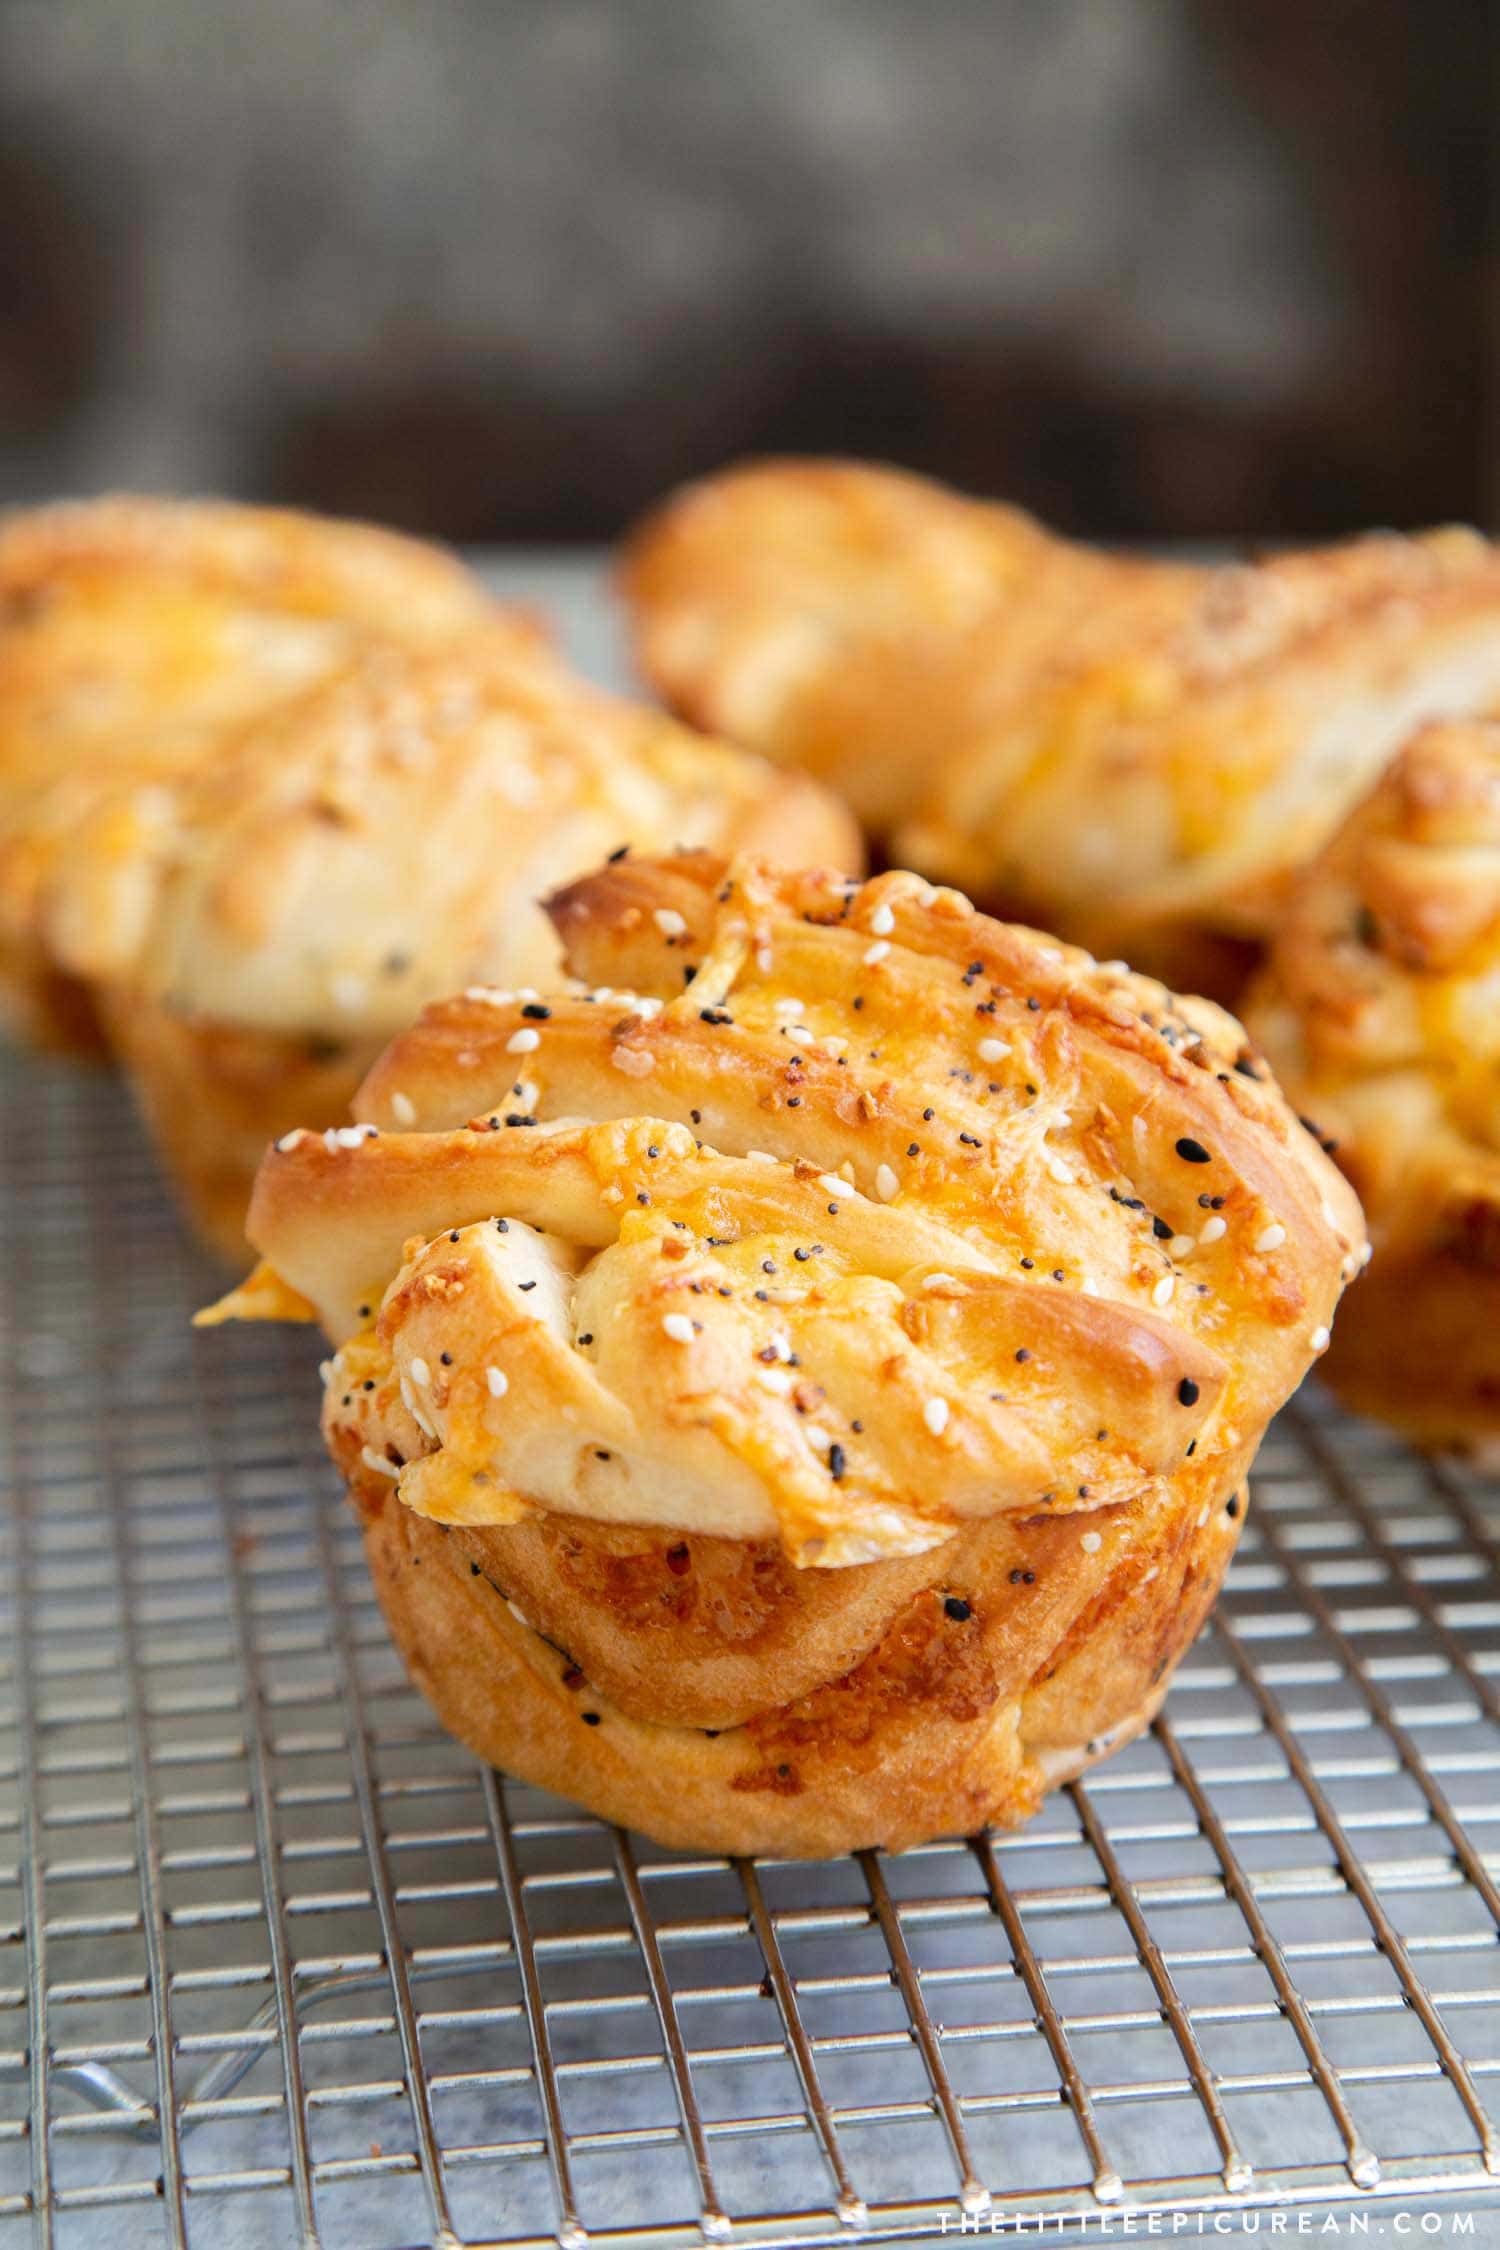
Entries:
POLYGON ((0 0, 0 497, 1500 515, 1491 0, 0 0))

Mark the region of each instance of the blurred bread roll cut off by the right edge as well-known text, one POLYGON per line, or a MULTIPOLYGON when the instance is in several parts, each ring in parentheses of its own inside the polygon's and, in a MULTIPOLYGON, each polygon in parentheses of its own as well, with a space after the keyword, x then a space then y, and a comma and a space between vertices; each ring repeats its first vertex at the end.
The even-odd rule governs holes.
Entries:
POLYGON ((1250 1028, 1338 1145, 1374 1258, 1329 1379, 1500 1442, 1500 727, 1426 727, 1286 904, 1250 1028))

